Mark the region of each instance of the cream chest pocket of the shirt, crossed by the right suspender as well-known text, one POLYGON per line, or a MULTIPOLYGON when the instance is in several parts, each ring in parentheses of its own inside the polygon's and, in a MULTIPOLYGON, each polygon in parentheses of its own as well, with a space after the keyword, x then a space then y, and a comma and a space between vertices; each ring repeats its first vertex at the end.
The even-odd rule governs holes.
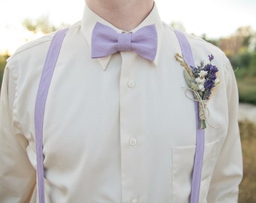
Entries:
MULTIPOLYGON (((218 141, 213 141, 205 145, 200 202, 206 202, 215 165, 217 143, 218 141)), ((190 201, 195 150, 196 146, 175 147, 172 149, 172 202, 187 203, 190 201)))

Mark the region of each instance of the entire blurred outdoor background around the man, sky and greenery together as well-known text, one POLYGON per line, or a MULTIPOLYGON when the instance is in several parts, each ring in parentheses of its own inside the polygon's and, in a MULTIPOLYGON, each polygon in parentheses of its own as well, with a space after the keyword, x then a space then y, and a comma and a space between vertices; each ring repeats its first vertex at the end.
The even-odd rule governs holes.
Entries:
MULTIPOLYGON (((239 203, 256 202, 256 1, 156 0, 162 20, 220 47, 239 86, 244 178, 239 203), (245 108, 244 108, 245 107, 245 108)), ((1 0, 0 83, 5 61, 27 41, 81 20, 84 0, 1 0)), ((0 84, 1 86, 1 84, 0 84)))

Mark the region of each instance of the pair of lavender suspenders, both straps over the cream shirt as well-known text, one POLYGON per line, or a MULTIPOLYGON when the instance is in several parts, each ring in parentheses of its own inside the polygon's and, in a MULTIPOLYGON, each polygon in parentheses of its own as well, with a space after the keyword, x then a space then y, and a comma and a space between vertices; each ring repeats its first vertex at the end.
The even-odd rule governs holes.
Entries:
MULTIPOLYGON (((50 80, 59 56, 59 50, 62 41, 65 38, 68 29, 62 29, 56 32, 50 44, 47 53, 47 58, 44 63, 44 68, 41 74, 41 80, 38 86, 38 93, 35 102, 35 145, 36 145, 36 159, 37 159, 37 176, 38 176, 38 196, 39 202, 44 203, 44 157, 43 157, 43 126, 44 126, 44 108, 47 99, 47 93, 50 86, 50 80)), ((194 59, 192 56, 190 44, 182 32, 175 30, 178 41, 181 46, 181 51, 188 65, 194 66, 194 59)), ((203 166, 203 153, 205 144, 205 132, 200 129, 198 102, 194 102, 196 124, 197 124, 197 147, 194 158, 194 173, 192 179, 192 188, 190 194, 190 203, 199 202, 200 195, 200 181, 203 166)))

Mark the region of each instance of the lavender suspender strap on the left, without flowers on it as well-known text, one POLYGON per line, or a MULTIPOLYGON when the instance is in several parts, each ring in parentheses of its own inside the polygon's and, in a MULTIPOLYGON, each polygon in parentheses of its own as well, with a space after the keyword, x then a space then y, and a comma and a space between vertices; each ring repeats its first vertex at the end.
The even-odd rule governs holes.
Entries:
POLYGON ((44 108, 47 99, 47 93, 50 86, 50 80, 53 76, 53 71, 56 61, 59 56, 59 50, 62 41, 66 35, 67 29, 61 29, 56 32, 51 41, 47 58, 44 62, 44 68, 41 74, 41 80, 38 86, 38 93, 35 101, 35 147, 37 161, 37 176, 38 176, 38 196, 39 202, 44 203, 44 156, 43 156, 43 126, 44 126, 44 108))

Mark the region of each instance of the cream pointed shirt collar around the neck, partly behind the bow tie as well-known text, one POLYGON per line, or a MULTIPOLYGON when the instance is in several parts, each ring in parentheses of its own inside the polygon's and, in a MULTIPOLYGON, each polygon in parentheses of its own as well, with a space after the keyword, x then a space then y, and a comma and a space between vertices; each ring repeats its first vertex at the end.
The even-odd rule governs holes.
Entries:
MULTIPOLYGON (((92 37, 93 28, 97 22, 102 23, 105 26, 111 27, 116 32, 119 32, 119 33, 123 32, 123 30, 117 29, 115 26, 111 25, 111 23, 108 23, 106 20, 102 19, 102 17, 99 17, 97 14, 91 11, 90 8, 88 8, 87 4, 85 4, 84 17, 81 21, 81 30, 89 47, 91 47, 91 37, 92 37)), ((148 17, 146 17, 145 20, 143 20, 142 23, 139 24, 139 26, 131 30, 131 32, 136 32, 142 27, 152 25, 152 24, 154 24, 157 29, 157 54, 154 59, 154 65, 157 66, 159 54, 160 54, 160 46, 162 44, 162 38, 163 38, 162 37, 163 24, 160 20, 160 16, 157 11, 157 5, 155 2, 154 2, 154 8, 152 9, 151 13, 148 14, 148 17)), ((111 59, 111 56, 106 56, 104 58, 97 59, 99 60, 99 63, 103 71, 105 71, 105 69, 107 68, 108 62, 110 59, 111 59)))

